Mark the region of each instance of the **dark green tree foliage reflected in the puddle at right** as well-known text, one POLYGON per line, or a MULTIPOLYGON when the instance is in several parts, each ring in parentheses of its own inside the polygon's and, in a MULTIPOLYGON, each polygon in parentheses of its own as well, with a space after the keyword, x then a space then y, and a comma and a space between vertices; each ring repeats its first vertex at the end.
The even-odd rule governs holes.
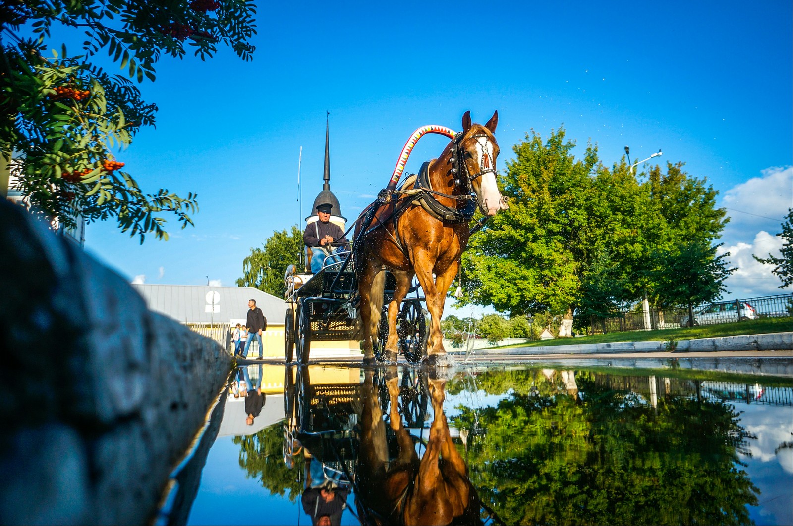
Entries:
POLYGON ((732 406, 653 408, 596 373, 575 378, 583 402, 557 374, 485 372, 477 388, 501 401, 454 418, 473 436, 471 482, 506 524, 752 524, 758 491, 737 457, 749 435, 732 406))

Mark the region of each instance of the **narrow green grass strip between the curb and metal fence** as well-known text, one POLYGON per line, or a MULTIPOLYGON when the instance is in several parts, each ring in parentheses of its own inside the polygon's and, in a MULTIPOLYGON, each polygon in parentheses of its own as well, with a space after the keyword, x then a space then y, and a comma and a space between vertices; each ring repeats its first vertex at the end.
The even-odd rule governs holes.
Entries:
POLYGON ((558 338, 556 340, 531 341, 491 349, 511 347, 552 347, 555 345, 581 345, 589 343, 612 343, 615 341, 686 341, 702 338, 740 336, 742 334, 782 333, 793 330, 793 318, 760 318, 746 322, 715 323, 684 329, 632 330, 622 333, 596 334, 577 338, 558 338))

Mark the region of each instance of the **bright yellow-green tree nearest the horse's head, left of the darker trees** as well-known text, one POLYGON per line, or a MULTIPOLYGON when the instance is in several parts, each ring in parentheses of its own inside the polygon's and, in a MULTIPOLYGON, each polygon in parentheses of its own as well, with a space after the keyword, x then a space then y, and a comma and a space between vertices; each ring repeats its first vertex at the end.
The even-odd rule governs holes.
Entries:
POLYGON ((501 177, 510 208, 474 234, 463 253, 473 289, 463 303, 523 315, 563 314, 576 302, 580 241, 589 227, 584 203, 597 154, 590 146, 577 161, 573 147, 560 129, 545 143, 532 132, 512 148, 515 161, 501 177))

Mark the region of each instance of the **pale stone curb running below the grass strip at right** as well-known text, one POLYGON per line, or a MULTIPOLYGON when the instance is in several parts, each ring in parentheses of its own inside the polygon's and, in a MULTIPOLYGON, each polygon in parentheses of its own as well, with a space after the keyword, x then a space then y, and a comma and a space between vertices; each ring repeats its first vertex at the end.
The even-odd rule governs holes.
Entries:
POLYGON ((713 353, 719 351, 790 351, 793 332, 748 334, 676 341, 670 349, 667 341, 620 341, 615 343, 554 345, 548 347, 511 347, 508 349, 480 349, 478 356, 525 356, 546 354, 619 354, 619 353, 713 353))

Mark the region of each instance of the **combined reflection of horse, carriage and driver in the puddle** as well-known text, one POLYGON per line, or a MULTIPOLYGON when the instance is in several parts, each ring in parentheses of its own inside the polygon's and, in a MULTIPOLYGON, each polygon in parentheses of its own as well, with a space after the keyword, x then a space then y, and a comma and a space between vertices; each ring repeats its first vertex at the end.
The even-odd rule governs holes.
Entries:
POLYGON ((312 524, 340 524, 351 492, 363 524, 483 523, 443 411, 445 379, 397 366, 350 384, 312 383, 308 368, 294 383, 291 368, 286 375, 285 452, 288 464, 301 451, 306 459, 302 502, 312 524))

